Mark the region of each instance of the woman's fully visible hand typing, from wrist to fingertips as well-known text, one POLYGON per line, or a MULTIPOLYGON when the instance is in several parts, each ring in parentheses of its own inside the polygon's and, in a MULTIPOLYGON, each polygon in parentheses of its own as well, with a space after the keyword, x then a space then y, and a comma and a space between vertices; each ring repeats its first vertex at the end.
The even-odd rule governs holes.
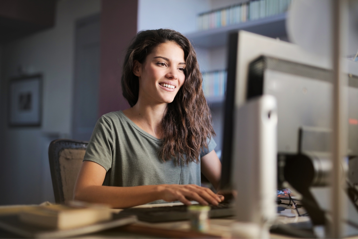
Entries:
POLYGON ((195 184, 178 185, 163 184, 158 185, 161 199, 166 202, 179 200, 185 205, 191 205, 190 200, 195 200, 202 205, 218 205, 224 200, 222 195, 217 195, 209 188, 200 187, 195 184))

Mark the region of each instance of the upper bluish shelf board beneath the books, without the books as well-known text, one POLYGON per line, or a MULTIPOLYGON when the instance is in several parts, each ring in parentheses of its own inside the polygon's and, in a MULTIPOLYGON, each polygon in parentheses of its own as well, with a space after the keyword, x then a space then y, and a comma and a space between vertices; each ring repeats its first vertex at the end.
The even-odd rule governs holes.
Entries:
POLYGON ((229 32, 238 30, 245 30, 273 38, 285 36, 286 13, 256 20, 249 20, 243 23, 228 25, 225 27, 188 33, 186 37, 192 41, 194 47, 219 47, 226 45, 229 32))

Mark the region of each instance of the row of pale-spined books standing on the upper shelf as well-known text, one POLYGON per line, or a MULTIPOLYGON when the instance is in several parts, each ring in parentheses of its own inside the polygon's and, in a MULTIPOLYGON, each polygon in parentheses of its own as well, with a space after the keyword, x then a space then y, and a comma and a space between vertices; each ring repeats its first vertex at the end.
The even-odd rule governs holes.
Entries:
POLYGON ((254 0, 199 14, 198 30, 225 27, 284 13, 292 0, 254 0))

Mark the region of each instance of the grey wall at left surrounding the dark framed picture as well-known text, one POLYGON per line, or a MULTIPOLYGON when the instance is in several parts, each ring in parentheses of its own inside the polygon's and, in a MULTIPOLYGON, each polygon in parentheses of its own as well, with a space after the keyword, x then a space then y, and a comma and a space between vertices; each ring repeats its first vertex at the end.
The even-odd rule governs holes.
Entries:
POLYGON ((4 45, 0 84, 0 204, 53 200, 47 147, 70 137, 75 20, 100 12, 100 0, 60 0, 55 27, 4 45), (43 73, 43 124, 9 128, 7 90, 11 77, 43 73))

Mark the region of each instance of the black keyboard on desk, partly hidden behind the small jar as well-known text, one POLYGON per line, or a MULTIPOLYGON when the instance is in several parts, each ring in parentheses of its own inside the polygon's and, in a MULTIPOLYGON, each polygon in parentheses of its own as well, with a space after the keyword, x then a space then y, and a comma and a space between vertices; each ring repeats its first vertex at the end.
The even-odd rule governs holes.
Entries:
MULTIPOLYGON (((189 212, 185 205, 127 208, 121 211, 119 215, 136 215, 138 220, 150 223, 189 220, 189 212)), ((212 205, 209 211, 210 218, 223 218, 233 215, 233 206, 229 202, 221 202, 217 206, 212 205)))

